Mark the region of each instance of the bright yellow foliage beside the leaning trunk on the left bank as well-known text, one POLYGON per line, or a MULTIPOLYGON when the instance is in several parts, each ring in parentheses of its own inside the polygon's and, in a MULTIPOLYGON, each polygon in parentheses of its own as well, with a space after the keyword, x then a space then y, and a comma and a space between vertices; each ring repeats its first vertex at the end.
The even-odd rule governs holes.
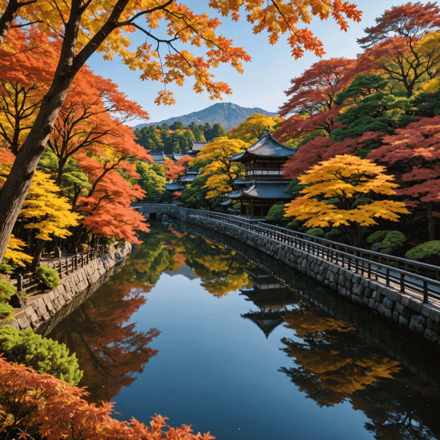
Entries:
POLYGON ((67 198, 60 197, 59 191, 59 187, 50 180, 48 174, 35 172, 18 220, 35 218, 37 222, 27 224, 25 228, 38 229, 40 232, 36 238, 50 240, 52 234, 66 238, 72 235, 68 228, 78 224, 80 216, 70 212, 71 206, 67 198))

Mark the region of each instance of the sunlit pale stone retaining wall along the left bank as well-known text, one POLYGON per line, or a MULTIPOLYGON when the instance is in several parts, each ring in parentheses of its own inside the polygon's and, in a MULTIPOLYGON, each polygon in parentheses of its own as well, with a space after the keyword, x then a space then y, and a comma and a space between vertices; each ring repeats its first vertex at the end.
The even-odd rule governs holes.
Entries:
POLYGON ((37 333, 47 334, 113 275, 131 251, 131 244, 126 243, 60 279, 56 289, 30 297, 26 306, 14 309, 15 321, 11 325, 19 330, 33 328, 37 333))

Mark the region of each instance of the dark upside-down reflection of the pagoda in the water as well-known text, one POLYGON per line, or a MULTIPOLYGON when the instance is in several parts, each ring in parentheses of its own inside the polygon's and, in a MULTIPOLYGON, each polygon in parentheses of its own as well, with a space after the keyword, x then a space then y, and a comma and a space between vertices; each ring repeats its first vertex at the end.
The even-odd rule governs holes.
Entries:
POLYGON ((263 269, 255 267, 245 269, 245 272, 252 280, 253 287, 242 287, 240 295, 246 295, 246 301, 252 301, 260 311, 250 311, 241 316, 257 324, 267 339, 284 322, 287 306, 295 304, 297 297, 292 290, 263 269))

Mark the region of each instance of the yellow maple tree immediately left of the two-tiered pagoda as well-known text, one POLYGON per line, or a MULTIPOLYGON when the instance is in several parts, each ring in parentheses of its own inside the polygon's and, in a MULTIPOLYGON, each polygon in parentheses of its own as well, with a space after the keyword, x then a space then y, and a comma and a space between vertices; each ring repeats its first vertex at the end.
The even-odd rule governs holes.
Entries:
POLYGON ((232 191, 231 185, 237 176, 244 176, 244 169, 242 164, 231 162, 229 158, 242 153, 247 147, 249 143, 241 139, 219 137, 205 145, 197 158, 190 162, 191 166, 207 163, 201 168, 202 176, 208 176, 203 188, 211 190, 206 194, 206 198, 222 197, 232 191))

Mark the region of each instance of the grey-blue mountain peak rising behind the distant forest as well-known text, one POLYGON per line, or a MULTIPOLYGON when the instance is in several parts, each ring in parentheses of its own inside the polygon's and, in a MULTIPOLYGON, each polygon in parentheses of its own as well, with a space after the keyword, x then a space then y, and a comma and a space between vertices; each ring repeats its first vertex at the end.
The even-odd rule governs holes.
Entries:
POLYGON ((150 127, 150 125, 172 125, 176 121, 182 122, 183 125, 189 125, 194 122, 197 125, 203 125, 206 122, 210 125, 221 124, 225 130, 237 127, 238 124, 246 121, 246 119, 254 113, 265 114, 266 116, 275 117, 277 113, 269 112, 259 107, 241 107, 234 103, 215 103, 203 110, 195 111, 182 116, 170 117, 158 122, 149 122, 148 124, 139 124, 134 128, 150 127))

